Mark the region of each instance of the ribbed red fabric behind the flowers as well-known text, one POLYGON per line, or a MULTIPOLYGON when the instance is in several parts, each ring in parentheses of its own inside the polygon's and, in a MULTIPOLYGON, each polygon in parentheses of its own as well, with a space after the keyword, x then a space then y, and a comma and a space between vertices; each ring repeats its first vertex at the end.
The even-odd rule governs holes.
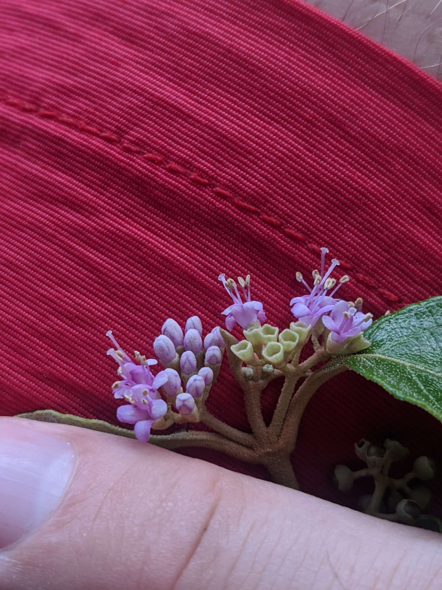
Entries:
MULTIPOLYGON (((440 293, 442 91, 413 65, 294 0, 3 0, 0 17, 1 413, 115 422, 106 330, 151 354, 167 316, 210 329, 220 271, 250 272, 282 327, 322 245, 375 316, 440 293)), ((209 405, 246 427, 226 372, 209 405)), ((356 375, 326 385, 304 490, 338 499, 332 466, 388 431, 442 462, 436 419, 356 375)))

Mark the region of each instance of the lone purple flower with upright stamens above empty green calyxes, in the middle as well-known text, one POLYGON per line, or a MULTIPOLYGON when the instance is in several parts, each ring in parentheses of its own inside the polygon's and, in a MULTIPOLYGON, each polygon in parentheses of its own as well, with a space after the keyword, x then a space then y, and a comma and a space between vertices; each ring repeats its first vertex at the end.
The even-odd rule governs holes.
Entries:
POLYGON ((250 300, 250 275, 246 276, 246 280, 238 277, 238 282, 243 291, 244 303, 238 291, 235 281, 232 278, 226 280, 225 274, 220 274, 218 280, 225 286, 227 293, 232 297, 233 305, 227 307, 223 312, 226 317, 226 328, 229 332, 232 331, 236 324, 239 324, 243 329, 256 326, 265 322, 266 315, 262 309, 260 301, 250 300))

